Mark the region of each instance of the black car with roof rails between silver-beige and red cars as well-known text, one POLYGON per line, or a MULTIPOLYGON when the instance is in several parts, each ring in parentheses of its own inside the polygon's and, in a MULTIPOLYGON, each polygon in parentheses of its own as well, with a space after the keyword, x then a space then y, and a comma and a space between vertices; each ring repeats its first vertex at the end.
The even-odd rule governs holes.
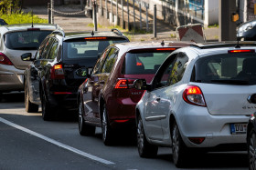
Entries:
POLYGON ((25 71, 27 112, 42 106, 44 120, 50 120, 61 108, 77 109, 79 86, 90 74, 102 51, 111 44, 128 42, 119 30, 109 32, 69 33, 55 31, 42 42, 25 71))

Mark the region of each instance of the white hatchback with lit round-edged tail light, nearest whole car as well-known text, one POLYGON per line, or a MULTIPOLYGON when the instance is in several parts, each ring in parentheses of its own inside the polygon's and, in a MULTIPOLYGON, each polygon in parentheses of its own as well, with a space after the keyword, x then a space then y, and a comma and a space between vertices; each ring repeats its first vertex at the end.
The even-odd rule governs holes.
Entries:
POLYGON ((246 43, 180 48, 150 85, 134 82, 145 90, 136 105, 140 156, 172 146, 174 164, 181 167, 200 150, 246 150, 247 123, 256 108, 256 45, 246 43))

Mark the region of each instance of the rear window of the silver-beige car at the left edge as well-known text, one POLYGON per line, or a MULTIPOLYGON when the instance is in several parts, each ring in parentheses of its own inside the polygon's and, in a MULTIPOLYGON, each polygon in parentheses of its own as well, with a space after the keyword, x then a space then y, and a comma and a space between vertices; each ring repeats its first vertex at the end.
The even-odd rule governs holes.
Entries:
POLYGON ((52 31, 20 31, 5 34, 5 46, 13 50, 37 50, 52 31))

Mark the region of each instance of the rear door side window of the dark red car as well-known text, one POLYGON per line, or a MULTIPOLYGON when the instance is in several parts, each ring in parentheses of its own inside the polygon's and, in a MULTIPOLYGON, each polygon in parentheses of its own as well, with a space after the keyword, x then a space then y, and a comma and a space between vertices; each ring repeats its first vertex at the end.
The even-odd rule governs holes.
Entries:
POLYGON ((116 48, 111 48, 101 69, 101 73, 111 73, 112 66, 115 64, 117 55, 118 50, 116 48))

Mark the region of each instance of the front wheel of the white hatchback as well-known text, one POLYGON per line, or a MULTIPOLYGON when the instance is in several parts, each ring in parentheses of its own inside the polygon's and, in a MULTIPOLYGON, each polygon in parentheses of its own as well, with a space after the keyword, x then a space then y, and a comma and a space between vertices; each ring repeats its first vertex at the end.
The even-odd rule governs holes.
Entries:
POLYGON ((158 146, 151 145, 146 140, 141 116, 138 117, 137 121, 137 146, 141 157, 155 157, 157 155, 158 146))

